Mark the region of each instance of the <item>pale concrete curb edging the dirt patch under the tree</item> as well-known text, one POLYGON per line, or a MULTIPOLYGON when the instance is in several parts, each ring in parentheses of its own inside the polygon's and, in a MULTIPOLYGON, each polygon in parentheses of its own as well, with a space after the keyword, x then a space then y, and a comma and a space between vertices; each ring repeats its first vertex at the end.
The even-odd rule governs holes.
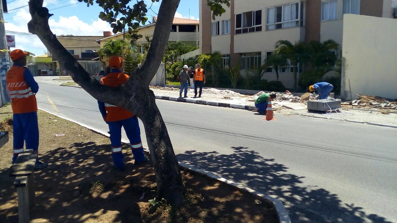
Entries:
MULTIPOLYGON (((67 86, 67 87, 71 87, 71 86, 68 86, 68 85, 66 85, 66 86, 67 86)), ((39 109, 42 110, 42 111, 44 111, 44 112, 50 113, 50 114, 52 114, 52 115, 55 115, 55 116, 57 116, 57 117, 60 117, 60 118, 62 118, 62 119, 66 119, 67 121, 71 121, 71 122, 73 122, 73 123, 76 123, 77 125, 81 125, 81 126, 85 127, 86 129, 89 129, 89 130, 91 130, 91 131, 93 131, 93 132, 95 132, 95 133, 98 133, 98 134, 100 134, 100 135, 103 135, 103 136, 106 136, 106 137, 109 137, 109 136, 110 136, 109 133, 103 132, 103 131, 101 131, 101 130, 99 130, 99 129, 96 129, 96 128, 94 128, 94 127, 91 127, 91 126, 89 126, 89 125, 85 125, 85 124, 83 124, 83 123, 80 123, 80 122, 75 121, 75 120, 73 120, 73 119, 69 119, 69 118, 64 117, 64 116, 62 116, 62 115, 58 115, 58 114, 49 112, 49 111, 44 110, 44 109, 42 109, 42 108, 39 108, 39 109)), ((125 141, 125 140, 121 140, 121 142, 126 143, 126 144, 129 144, 129 142, 127 142, 127 141, 125 141)), ((145 151, 148 152, 148 153, 150 153, 148 149, 145 149, 145 151)), ((246 187, 246 186, 239 185, 239 184, 237 184, 237 183, 235 183, 235 182, 233 182, 233 181, 230 181, 230 180, 228 180, 228 179, 225 179, 225 178, 220 177, 220 176, 218 176, 218 175, 215 175, 215 174, 213 174, 213 173, 209 173, 209 172, 204 171, 204 170, 202 170, 202 169, 198 169, 198 168, 196 168, 196 167, 192 167, 191 165, 188 165, 188 164, 186 164, 186 163, 182 163, 182 162, 179 162, 179 161, 178 161, 178 164, 179 164, 179 166, 182 167, 182 168, 189 169, 189 170, 194 171, 194 172, 196 172, 196 173, 198 173, 198 174, 205 175, 205 176, 210 177, 210 178, 212 178, 212 179, 215 179, 215 180, 217 180, 217 181, 220 181, 220 182, 226 183, 226 184, 228 184, 228 185, 230 185, 230 186, 236 187, 237 190, 244 190, 244 191, 246 191, 246 192, 249 192, 249 193, 253 194, 253 195, 254 195, 256 198, 258 198, 259 200, 263 200, 263 201, 265 201, 265 202, 268 202, 269 204, 271 204, 271 205, 276 209, 277 217, 278 217, 279 223, 291 223, 291 219, 289 219, 288 211, 285 209, 283 203, 282 203, 281 201, 277 200, 276 198, 272 198, 271 196, 268 196, 268 195, 266 195, 266 194, 262 194, 262 193, 260 193, 260 192, 258 192, 258 191, 256 191, 256 190, 252 190, 251 188, 248 188, 248 187, 246 187)))

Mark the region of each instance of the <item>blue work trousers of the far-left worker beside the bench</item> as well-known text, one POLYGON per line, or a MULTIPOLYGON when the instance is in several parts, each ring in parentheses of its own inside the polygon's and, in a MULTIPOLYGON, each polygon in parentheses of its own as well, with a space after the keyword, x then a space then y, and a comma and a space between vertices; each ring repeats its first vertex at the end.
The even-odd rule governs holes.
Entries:
MULTIPOLYGON (((39 150, 39 124, 37 123, 37 112, 13 114, 13 156, 12 163, 23 152, 25 148, 33 151, 39 150)), ((36 160, 36 163, 39 159, 36 160)))

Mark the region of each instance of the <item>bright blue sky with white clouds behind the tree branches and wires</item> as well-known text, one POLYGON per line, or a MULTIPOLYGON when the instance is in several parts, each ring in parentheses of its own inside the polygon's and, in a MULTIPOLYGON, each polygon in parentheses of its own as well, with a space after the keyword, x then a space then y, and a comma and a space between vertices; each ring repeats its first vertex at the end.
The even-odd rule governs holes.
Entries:
MULTIPOLYGON (((31 16, 26 6, 28 0, 7 0, 7 2, 9 2, 7 4, 9 13, 4 14, 4 20, 7 22, 5 23, 6 31, 29 33, 27 30, 27 23, 31 19, 31 16)), ((133 3, 135 0, 131 2, 133 3)), ((145 3, 149 7, 151 1, 145 0, 145 3)), ((151 19, 151 16, 156 16, 160 3, 161 0, 160 2, 153 3, 152 10, 154 12, 149 10, 147 13, 149 19, 151 19)), ((87 4, 78 2, 77 0, 44 0, 44 6, 50 10, 50 13, 54 14, 50 17, 49 24, 52 32, 56 35, 71 34, 97 36, 102 35, 103 31, 112 31, 108 23, 98 18, 101 8, 95 1, 93 6, 87 7, 87 4)), ((181 0, 175 17, 198 19, 198 16, 198 0, 181 0)), ((45 46, 35 35, 17 35, 7 32, 6 34, 15 35, 16 48, 33 52, 37 56, 44 54, 43 51, 46 50, 45 46)), ((11 50, 13 49, 14 48, 11 48, 11 50)))

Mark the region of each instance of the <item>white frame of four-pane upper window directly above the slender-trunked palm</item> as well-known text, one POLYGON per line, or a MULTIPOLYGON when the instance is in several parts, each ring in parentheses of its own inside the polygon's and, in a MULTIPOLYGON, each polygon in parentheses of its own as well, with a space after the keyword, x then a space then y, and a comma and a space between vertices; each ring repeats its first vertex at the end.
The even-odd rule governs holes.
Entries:
POLYGON ((288 4, 283 4, 279 6, 273 6, 273 7, 268 7, 266 8, 266 31, 271 31, 271 30, 278 30, 276 28, 276 25, 281 24, 281 28, 279 29, 288 29, 288 28, 295 28, 295 27, 304 27, 304 14, 305 14, 305 9, 304 9, 304 2, 291 2, 288 4), (291 20, 291 5, 293 4, 298 4, 298 15, 297 19, 292 19, 291 20), (285 6, 289 5, 290 6, 290 16, 288 21, 283 21, 284 20, 284 8, 285 6), (281 7, 281 22, 277 22, 277 13, 276 13, 276 8, 281 7), (274 12, 274 22, 273 23, 268 23, 268 10, 273 9, 274 12), (283 27, 283 23, 292 23, 292 22, 298 22, 297 26, 293 27, 283 27), (269 26, 273 25, 273 29, 269 29, 269 26))

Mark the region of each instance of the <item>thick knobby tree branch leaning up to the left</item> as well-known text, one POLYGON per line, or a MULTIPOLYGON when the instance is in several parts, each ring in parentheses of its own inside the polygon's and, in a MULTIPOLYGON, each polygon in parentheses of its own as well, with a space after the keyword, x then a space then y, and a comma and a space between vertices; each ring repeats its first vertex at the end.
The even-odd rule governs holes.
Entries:
POLYGON ((52 14, 49 14, 48 9, 42 7, 42 4, 43 0, 29 1, 29 12, 32 17, 28 23, 29 32, 40 38, 60 65, 62 64, 67 71, 70 71, 73 81, 83 87, 91 96, 102 102, 124 107, 126 100, 122 97, 124 95, 121 93, 122 88, 112 88, 100 84, 58 41, 48 25, 48 18, 52 14))

